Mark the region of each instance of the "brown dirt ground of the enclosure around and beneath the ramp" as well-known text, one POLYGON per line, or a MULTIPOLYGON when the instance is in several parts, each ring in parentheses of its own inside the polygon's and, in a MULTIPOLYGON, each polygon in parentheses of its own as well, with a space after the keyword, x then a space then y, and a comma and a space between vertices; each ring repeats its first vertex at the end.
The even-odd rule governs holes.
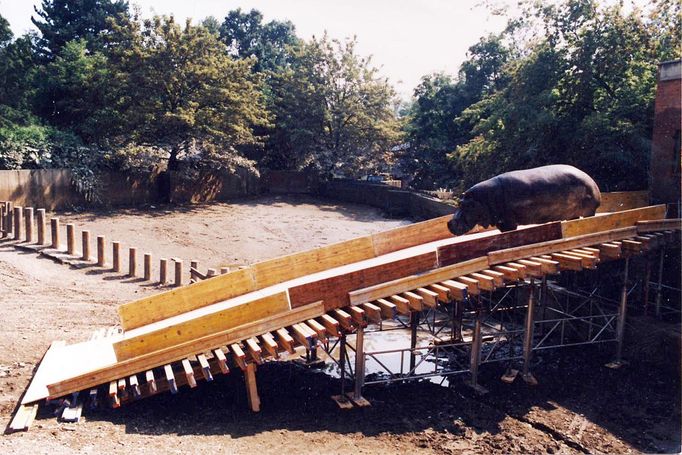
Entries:
MULTIPOLYGON (((206 267, 246 264, 405 224, 361 206, 307 197, 234 204, 59 214, 95 235, 156 257, 206 267)), ((117 323, 116 306, 156 291, 94 267, 68 267, 0 242, 0 424, 7 426, 53 340, 74 342, 117 323)), ((485 396, 460 380, 369 386, 372 406, 339 410, 338 380, 293 363, 259 369, 262 411, 248 411, 240 373, 118 410, 60 423, 43 406, 0 453, 675 453, 680 377, 643 359, 604 368, 613 346, 537 357, 539 385, 507 385, 481 370, 485 396)), ((76 361, 76 359, 74 359, 76 361)))

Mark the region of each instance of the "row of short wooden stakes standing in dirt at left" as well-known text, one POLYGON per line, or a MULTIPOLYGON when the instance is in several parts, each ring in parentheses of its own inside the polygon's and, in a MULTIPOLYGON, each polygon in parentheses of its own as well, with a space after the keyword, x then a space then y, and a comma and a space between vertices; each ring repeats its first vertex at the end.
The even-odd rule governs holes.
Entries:
MULTIPOLYGON (((97 251, 96 256, 93 257, 91 252, 91 235, 89 230, 81 231, 81 252, 76 251, 76 226, 74 224, 66 224, 66 250, 63 250, 61 243, 61 226, 59 218, 53 217, 49 219, 49 233, 50 239, 47 238, 47 219, 45 209, 34 209, 33 207, 13 207, 12 202, 0 202, 0 233, 2 238, 12 239, 16 241, 23 241, 27 245, 35 245, 37 247, 51 248, 56 251, 65 251, 70 256, 79 257, 82 261, 90 262, 95 260, 98 267, 107 267, 108 258, 106 252, 106 238, 103 235, 96 237, 97 251), (34 235, 37 234, 37 235, 34 235)), ((121 242, 111 242, 111 269, 114 272, 121 273, 123 271, 121 259, 121 242)), ((145 253, 143 255, 143 274, 144 281, 152 280, 152 255, 145 253)), ((159 280, 158 283, 172 284, 173 286, 182 286, 183 279, 183 261, 179 258, 171 258, 173 263, 174 277, 173 281, 169 282, 168 276, 168 259, 159 259, 159 280)), ((127 276, 137 277, 137 248, 128 248, 128 271, 127 276)), ((230 271, 229 267, 220 268, 220 274, 230 271)), ((190 282, 197 279, 206 279, 218 275, 216 269, 209 268, 205 274, 198 270, 198 261, 191 261, 190 263, 190 282)))

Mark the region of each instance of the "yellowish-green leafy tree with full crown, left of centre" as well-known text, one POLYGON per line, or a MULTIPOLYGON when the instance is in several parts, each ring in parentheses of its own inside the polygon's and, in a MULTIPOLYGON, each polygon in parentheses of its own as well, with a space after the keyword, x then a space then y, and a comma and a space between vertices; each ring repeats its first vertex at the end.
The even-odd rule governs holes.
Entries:
POLYGON ((251 60, 234 61, 203 26, 172 17, 117 29, 126 46, 112 53, 122 112, 120 143, 161 147, 168 169, 180 161, 213 168, 249 165, 240 147, 256 143, 251 125, 266 122, 251 60))

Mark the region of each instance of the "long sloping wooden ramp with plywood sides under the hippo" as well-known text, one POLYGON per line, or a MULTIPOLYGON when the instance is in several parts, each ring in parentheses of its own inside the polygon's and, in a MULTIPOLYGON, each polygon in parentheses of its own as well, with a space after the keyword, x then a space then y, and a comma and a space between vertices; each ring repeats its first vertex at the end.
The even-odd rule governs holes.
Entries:
POLYGON ((122 305, 121 333, 53 345, 22 405, 80 393, 118 407, 234 369, 255 384, 266 359, 368 322, 673 242, 680 220, 664 218, 652 206, 453 237, 441 217, 257 263, 122 305))

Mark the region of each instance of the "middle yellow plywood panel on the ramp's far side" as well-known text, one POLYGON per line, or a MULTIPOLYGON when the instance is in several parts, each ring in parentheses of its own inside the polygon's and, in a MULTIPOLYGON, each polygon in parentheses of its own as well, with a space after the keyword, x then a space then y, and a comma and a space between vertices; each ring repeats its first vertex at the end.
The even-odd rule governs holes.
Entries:
POLYGON ((257 289, 374 257, 372 238, 360 237, 251 266, 257 289))

